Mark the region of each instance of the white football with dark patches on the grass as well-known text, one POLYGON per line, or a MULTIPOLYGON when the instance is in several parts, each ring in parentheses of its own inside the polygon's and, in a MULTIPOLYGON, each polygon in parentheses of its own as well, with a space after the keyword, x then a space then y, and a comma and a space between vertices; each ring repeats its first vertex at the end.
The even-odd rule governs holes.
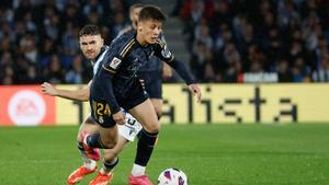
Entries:
POLYGON ((170 167, 160 173, 158 185, 188 185, 188 176, 183 171, 170 167))

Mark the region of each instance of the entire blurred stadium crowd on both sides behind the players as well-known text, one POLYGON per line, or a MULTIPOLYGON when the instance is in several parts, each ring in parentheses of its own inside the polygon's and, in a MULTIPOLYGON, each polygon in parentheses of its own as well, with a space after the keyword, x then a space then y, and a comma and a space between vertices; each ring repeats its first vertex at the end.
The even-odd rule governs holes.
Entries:
MULTIPOLYGON (((82 25, 105 44, 129 24, 127 0, 1 0, 0 84, 83 83, 82 25)), ((329 1, 178 0, 190 67, 201 82, 242 82, 275 73, 279 82, 329 81, 329 1)), ((166 35, 166 33, 164 33, 166 35)))

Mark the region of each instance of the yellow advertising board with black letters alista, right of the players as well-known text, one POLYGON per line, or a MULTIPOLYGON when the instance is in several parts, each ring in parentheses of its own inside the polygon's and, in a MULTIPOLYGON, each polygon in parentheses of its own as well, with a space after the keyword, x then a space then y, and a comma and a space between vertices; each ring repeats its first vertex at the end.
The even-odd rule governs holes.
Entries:
MULTIPOLYGON (((329 102, 326 101, 329 100, 329 94, 326 93, 329 92, 329 86, 326 84, 202 84, 201 88, 205 97, 196 106, 183 84, 163 84, 161 122, 329 122, 329 102), (311 101, 307 101, 310 99, 311 101)), ((89 105, 72 106, 79 106, 73 109, 81 109, 79 115, 83 119, 82 111, 89 108, 89 105)))

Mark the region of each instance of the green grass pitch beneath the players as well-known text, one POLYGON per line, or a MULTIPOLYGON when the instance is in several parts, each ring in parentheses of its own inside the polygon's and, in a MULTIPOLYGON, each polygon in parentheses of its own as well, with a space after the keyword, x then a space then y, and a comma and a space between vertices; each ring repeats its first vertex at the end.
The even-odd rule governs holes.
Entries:
MULTIPOLYGON (((0 184, 64 185, 81 165, 77 130, 0 127, 0 184)), ((111 184, 127 184, 135 148, 136 141, 121 154, 111 184)), ((170 166, 182 169, 190 185, 328 185, 329 124, 166 125, 147 173, 157 184, 170 166)))

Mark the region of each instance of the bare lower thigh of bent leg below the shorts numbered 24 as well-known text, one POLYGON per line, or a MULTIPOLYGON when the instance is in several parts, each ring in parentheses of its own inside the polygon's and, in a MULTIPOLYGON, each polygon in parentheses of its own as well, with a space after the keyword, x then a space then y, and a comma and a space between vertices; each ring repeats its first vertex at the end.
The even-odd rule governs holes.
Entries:
POLYGON ((104 148, 113 149, 117 143, 117 126, 114 125, 113 127, 100 127, 100 135, 102 144, 104 148))

